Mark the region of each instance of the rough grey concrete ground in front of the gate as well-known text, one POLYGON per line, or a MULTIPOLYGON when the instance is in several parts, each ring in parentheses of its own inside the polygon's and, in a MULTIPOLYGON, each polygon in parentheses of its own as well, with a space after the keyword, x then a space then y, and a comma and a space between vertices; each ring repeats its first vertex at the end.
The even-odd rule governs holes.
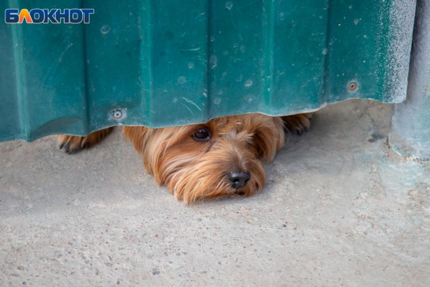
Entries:
POLYGON ((116 131, 75 155, 0 144, 0 286, 429 286, 430 163, 390 105, 315 114, 262 192, 184 207, 116 131))

